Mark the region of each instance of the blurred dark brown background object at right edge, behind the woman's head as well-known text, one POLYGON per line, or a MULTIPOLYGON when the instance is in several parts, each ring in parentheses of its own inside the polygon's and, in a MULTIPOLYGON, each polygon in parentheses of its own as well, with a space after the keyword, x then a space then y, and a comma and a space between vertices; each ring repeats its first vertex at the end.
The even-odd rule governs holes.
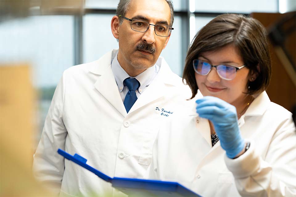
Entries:
POLYGON ((266 92, 272 102, 291 110, 296 102, 296 12, 252 13, 271 41, 272 77, 266 92))

